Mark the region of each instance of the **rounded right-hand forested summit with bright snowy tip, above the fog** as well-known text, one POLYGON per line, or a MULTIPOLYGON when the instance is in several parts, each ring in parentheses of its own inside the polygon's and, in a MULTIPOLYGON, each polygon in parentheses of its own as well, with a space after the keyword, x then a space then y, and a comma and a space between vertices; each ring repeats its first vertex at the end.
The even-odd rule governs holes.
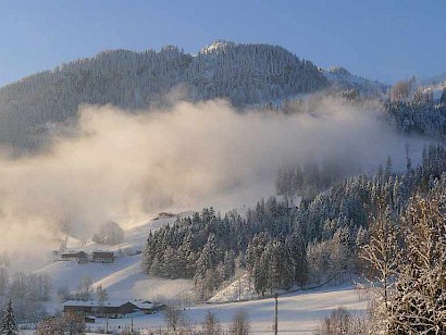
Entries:
POLYGON ((194 58, 188 84, 193 100, 228 98, 243 107, 311 92, 327 80, 282 47, 216 41, 194 58))

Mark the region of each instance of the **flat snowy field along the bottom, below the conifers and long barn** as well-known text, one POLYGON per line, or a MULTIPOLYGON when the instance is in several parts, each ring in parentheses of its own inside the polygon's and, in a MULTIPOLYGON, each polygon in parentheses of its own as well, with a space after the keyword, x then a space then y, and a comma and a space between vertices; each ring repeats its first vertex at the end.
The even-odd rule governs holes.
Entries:
MULTIPOLYGON (((360 301, 352 286, 337 288, 320 288, 305 290, 278 297, 278 332, 281 334, 312 334, 319 322, 337 307, 361 313, 366 302, 360 301)), ((186 309, 184 314, 189 324, 200 327, 207 311, 212 311, 224 327, 227 327, 234 314, 240 309, 249 314, 252 334, 268 334, 272 332, 274 317, 274 299, 252 300, 246 302, 228 302, 214 305, 199 305, 186 309)), ((132 319, 109 320, 109 330, 129 326, 132 319)), ((163 313, 138 315, 133 318, 134 328, 156 330, 165 327, 163 313)), ((106 320, 98 319, 91 327, 104 328, 106 320)), ((144 333, 143 333, 144 334, 144 333)))

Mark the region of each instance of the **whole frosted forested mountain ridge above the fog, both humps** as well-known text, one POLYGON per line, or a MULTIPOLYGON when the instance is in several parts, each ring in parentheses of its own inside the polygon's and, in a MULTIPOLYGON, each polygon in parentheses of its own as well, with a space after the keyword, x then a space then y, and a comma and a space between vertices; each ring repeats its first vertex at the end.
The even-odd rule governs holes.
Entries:
POLYGON ((52 124, 75 117, 83 103, 158 108, 175 88, 186 100, 225 98, 244 107, 326 85, 310 61, 269 45, 218 41, 196 55, 176 47, 106 51, 1 88, 0 141, 38 147, 52 124))

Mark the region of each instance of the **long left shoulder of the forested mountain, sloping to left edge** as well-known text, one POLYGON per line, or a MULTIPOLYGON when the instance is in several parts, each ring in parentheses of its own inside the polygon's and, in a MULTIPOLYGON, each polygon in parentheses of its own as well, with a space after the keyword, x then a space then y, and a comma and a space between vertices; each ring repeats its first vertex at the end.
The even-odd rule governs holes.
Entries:
POLYGON ((0 89, 0 141, 39 146, 48 123, 76 115, 82 103, 147 108, 182 83, 191 57, 177 48, 106 51, 0 89))

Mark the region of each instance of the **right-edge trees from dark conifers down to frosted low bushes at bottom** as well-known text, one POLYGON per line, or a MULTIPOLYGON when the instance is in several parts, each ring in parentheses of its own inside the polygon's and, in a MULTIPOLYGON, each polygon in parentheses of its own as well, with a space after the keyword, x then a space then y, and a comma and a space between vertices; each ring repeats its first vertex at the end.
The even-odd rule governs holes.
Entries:
POLYGON ((411 172, 402 207, 382 198, 358 255, 372 303, 357 318, 338 310, 319 334, 446 333, 446 172, 444 150, 431 148, 411 172), (358 327, 359 325, 359 327, 358 327))

